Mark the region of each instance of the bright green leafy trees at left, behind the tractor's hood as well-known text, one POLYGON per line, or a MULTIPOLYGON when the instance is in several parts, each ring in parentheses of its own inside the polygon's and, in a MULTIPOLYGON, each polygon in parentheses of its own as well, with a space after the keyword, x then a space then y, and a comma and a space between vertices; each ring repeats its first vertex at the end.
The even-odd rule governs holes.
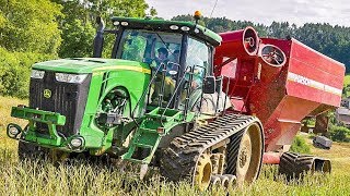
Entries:
POLYGON ((26 98, 35 62, 91 57, 96 15, 144 17, 148 8, 144 0, 0 0, 0 95, 26 98))

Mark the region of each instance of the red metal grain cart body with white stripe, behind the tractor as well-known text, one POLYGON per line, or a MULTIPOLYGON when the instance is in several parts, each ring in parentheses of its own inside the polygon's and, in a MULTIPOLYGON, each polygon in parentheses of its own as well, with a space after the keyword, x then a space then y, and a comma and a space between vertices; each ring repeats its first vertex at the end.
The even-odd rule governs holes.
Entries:
POLYGON ((291 145, 304 118, 340 105, 342 63, 295 39, 258 38, 252 27, 221 35, 215 75, 234 109, 262 122, 266 151, 291 145))

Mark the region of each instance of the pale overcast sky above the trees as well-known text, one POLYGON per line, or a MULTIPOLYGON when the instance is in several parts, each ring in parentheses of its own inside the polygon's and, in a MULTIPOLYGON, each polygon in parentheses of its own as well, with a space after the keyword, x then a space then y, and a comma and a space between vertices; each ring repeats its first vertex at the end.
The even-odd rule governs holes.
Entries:
MULTIPOLYGON (((215 0, 145 0, 159 16, 171 19, 192 14, 196 10, 210 16, 215 0)), ((295 23, 329 23, 350 26, 349 0, 218 0, 213 17, 252 21, 270 25, 272 21, 295 23)))

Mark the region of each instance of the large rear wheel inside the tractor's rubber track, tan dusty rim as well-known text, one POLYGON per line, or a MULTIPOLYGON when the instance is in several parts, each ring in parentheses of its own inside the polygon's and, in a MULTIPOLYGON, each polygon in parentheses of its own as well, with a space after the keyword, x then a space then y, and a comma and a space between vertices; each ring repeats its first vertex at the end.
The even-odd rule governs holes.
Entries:
POLYGON ((255 181, 260 172, 262 154, 262 131, 254 123, 231 137, 226 172, 236 175, 237 184, 255 181))

